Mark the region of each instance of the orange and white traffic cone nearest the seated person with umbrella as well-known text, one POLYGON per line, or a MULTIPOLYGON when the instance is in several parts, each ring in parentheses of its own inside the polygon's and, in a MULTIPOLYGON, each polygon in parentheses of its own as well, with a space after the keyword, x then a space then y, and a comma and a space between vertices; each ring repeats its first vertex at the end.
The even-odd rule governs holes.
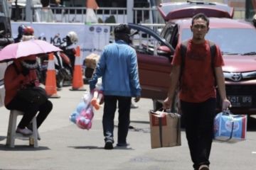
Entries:
POLYGON ((48 55, 48 68, 46 72, 46 94, 49 96, 49 98, 60 98, 60 96, 57 94, 53 53, 48 55))

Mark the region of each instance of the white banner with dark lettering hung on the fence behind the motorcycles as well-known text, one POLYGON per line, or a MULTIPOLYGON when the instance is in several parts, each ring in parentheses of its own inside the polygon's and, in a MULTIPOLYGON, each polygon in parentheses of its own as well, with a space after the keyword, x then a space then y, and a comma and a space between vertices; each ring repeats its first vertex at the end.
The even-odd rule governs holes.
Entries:
POLYGON ((46 40, 54 45, 65 42, 65 36, 70 31, 78 34, 80 54, 84 60, 87 55, 94 52, 100 55, 103 47, 110 42, 110 26, 89 26, 82 23, 21 23, 11 22, 11 30, 14 38, 18 35, 18 26, 21 24, 31 26, 36 38, 46 40), (55 35, 59 35, 55 38, 55 35))

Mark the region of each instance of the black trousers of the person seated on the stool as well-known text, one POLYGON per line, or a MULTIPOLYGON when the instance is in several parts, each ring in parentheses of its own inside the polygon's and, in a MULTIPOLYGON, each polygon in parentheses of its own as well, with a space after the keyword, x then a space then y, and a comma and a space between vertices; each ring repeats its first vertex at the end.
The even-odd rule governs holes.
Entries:
POLYGON ((9 110, 22 111, 24 113, 20 123, 18 123, 18 128, 21 129, 28 126, 33 117, 38 113, 36 116, 36 123, 37 128, 39 128, 53 109, 53 103, 46 101, 46 103, 43 103, 41 106, 36 106, 33 103, 31 104, 26 101, 19 100, 18 98, 14 98, 8 105, 6 105, 6 108, 9 110))

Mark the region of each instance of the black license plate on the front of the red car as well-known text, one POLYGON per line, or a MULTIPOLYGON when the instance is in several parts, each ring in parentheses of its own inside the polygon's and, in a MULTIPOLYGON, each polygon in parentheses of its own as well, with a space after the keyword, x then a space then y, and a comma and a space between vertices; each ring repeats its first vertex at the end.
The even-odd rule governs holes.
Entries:
POLYGON ((227 96, 233 107, 252 106, 252 96, 227 96))

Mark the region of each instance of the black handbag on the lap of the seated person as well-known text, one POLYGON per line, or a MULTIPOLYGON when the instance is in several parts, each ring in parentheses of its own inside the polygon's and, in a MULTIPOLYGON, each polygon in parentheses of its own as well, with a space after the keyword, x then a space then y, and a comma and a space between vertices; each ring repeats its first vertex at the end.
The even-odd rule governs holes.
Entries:
POLYGON ((27 86, 26 88, 20 89, 18 90, 17 97, 23 101, 33 103, 37 106, 46 103, 48 100, 46 90, 40 86, 27 86))

